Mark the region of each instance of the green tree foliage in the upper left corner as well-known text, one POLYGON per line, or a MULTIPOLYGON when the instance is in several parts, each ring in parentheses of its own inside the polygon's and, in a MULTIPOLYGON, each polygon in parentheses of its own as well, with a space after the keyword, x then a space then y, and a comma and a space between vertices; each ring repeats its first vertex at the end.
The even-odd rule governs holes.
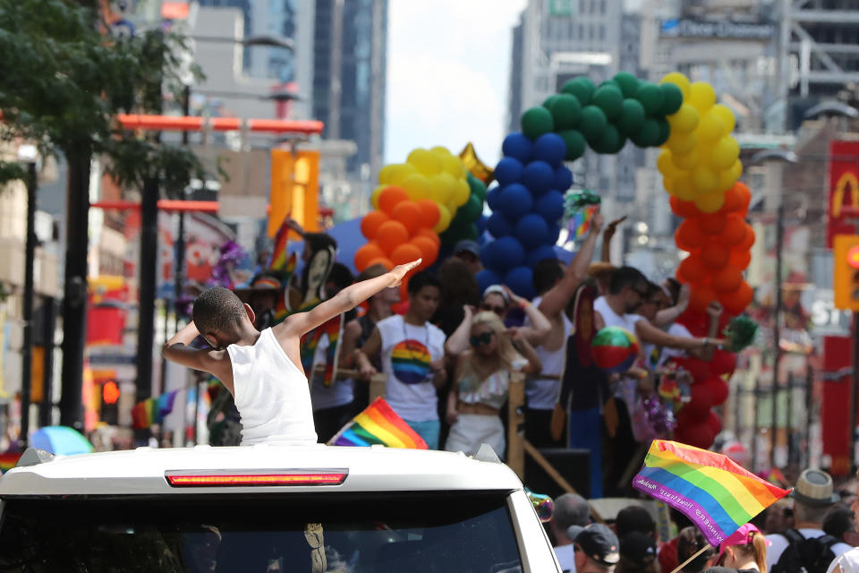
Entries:
MULTIPOLYGON (((181 91, 184 39, 163 30, 112 38, 98 12, 68 0, 0 0, 0 141, 32 141, 43 156, 103 154, 123 187, 158 177, 167 192, 202 177, 190 150, 129 133, 119 113, 159 113, 181 91)), ((25 174, 0 159, 0 183, 25 174)))

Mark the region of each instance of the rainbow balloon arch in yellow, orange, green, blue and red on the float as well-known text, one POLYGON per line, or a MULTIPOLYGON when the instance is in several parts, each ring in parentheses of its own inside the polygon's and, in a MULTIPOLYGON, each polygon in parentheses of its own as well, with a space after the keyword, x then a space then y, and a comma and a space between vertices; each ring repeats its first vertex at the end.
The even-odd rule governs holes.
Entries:
MULTIPOLYGON (((522 131, 506 136, 504 157, 482 181, 478 168, 466 168, 441 147, 412 150, 405 163, 383 167, 374 210, 361 221, 368 243, 356 252, 355 267, 391 268, 418 257, 429 267, 442 245, 476 240, 486 230, 492 240, 481 247, 481 287, 503 282, 518 295, 532 296, 534 265, 556 258, 560 224, 565 215, 576 215, 565 201, 573 174, 564 161, 582 157, 587 147, 617 153, 628 140, 661 148, 657 167, 670 208, 683 219, 676 245, 688 253, 676 278, 692 291, 679 321, 704 336, 712 301, 726 309, 722 329, 753 298, 743 271, 755 237, 745 222, 750 193, 738 181, 743 165, 731 136, 734 126, 733 113, 716 103, 712 86, 691 83, 682 73, 669 73, 659 84, 631 73, 617 73, 599 86, 575 78, 523 113, 522 131), (493 178, 498 184, 487 190, 493 178), (488 219, 481 217, 484 201, 492 211, 488 219)), ((692 396, 677 416, 678 439, 707 447, 719 432, 710 407, 727 398, 722 375, 733 372, 736 358, 717 350, 709 363, 686 362, 692 396)))

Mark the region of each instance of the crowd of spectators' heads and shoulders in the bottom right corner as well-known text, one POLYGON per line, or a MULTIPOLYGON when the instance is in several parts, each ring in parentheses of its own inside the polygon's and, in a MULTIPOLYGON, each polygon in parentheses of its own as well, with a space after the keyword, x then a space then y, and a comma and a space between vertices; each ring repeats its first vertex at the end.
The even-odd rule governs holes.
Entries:
POLYGON ((578 573, 857 573, 854 485, 836 491, 829 474, 807 469, 790 498, 764 509, 718 547, 675 510, 672 533, 661 538, 654 501, 636 500, 596 523, 591 503, 574 493, 555 500, 549 535, 561 569, 578 573))

